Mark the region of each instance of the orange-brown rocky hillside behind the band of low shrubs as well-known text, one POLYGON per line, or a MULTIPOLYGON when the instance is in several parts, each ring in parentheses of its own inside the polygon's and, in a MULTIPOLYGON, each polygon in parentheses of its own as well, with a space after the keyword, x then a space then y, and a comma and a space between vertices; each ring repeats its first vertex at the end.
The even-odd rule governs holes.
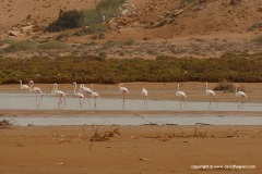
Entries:
MULTIPOLYGON (((34 55, 103 54, 107 58, 221 57, 225 52, 261 52, 252 41, 262 35, 261 0, 128 0, 121 13, 106 18, 109 29, 103 37, 70 35, 63 41, 67 50, 37 51, 34 55), (99 38, 99 39, 97 39, 99 38), (128 42, 129 44, 126 44, 128 42)), ((56 39, 59 34, 43 33, 59 11, 92 9, 98 0, 1 0, 0 27, 2 39, 14 30, 29 27, 9 38, 36 41, 56 39), (26 3, 26 2, 27 3, 26 3), (29 23, 29 25, 28 25, 29 23)), ((73 30, 78 33, 79 29, 73 30)), ((23 52, 26 57, 32 53, 23 52)), ((15 53, 2 53, 15 57, 15 53)))

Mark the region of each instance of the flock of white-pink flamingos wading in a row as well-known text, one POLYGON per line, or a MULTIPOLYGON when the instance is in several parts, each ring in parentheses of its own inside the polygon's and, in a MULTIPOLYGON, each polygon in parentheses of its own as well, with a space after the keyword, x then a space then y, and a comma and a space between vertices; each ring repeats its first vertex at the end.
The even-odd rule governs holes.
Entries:
MULTIPOLYGON (((88 99, 88 104, 91 107, 90 99, 94 99, 94 109, 97 107, 97 98, 100 98, 99 94, 94 91, 94 85, 91 84, 90 87, 86 87, 84 84, 81 84, 78 90, 78 84, 76 82, 73 83, 74 89, 73 89, 73 96, 79 99, 79 107, 80 109, 83 109, 83 104, 85 102, 85 99, 88 99)), ((24 85, 22 80, 20 80, 20 88, 22 90, 25 90, 27 92, 35 94, 35 107, 36 109, 40 108, 40 103, 44 97, 44 92, 39 87, 35 87, 35 84, 33 80, 29 80, 28 85, 24 85)), ((180 84, 177 84, 177 90, 175 95, 179 98, 180 102, 180 110, 186 109, 186 101, 187 101, 187 95, 184 91, 180 90, 180 84), (183 108, 182 108, 183 103, 183 108)), ((119 84, 119 91, 122 95, 122 110, 126 109, 126 97, 130 92, 127 87, 122 83, 119 84)), ((25 95, 24 94, 24 95, 25 95)), ((58 109, 66 109, 66 98, 67 95, 62 90, 58 90, 58 84, 55 83, 52 85, 52 90, 50 92, 51 96, 58 97, 58 109)), ((209 96, 209 109, 211 109, 212 102, 215 102, 216 109, 217 109, 217 100, 216 95, 214 90, 209 89, 209 83, 205 83, 205 95, 209 96)), ((243 104, 246 102, 246 99, 248 96, 246 92, 238 90, 238 85, 235 84, 235 95, 237 98, 241 98, 238 104, 238 108, 243 108, 243 104)), ((144 102, 144 110, 147 110, 147 100, 148 100, 148 91, 143 87, 142 88, 142 99, 144 102)))

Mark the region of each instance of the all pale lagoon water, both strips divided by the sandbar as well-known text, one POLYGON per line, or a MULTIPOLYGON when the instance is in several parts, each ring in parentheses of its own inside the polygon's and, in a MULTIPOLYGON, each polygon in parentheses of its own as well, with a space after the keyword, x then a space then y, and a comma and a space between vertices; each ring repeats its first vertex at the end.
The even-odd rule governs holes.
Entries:
MULTIPOLYGON (((27 95, 23 97, 22 94, 0 94, 0 109, 9 110, 35 110, 35 96, 27 95)), ((179 111, 179 101, 174 100, 148 100, 147 111, 179 111)), ((58 109, 58 97, 45 95, 40 104, 40 110, 56 110, 58 109)), ((73 97, 67 98, 66 110, 94 110, 94 100, 91 99, 91 107, 86 99, 83 109, 80 109, 79 99, 73 97)), ((121 99, 100 98, 97 99, 96 110, 122 110, 121 99)), ((143 111, 144 101, 139 99, 127 99, 126 110, 143 111)), ((209 102, 188 101, 184 111, 262 111, 262 103, 245 103, 243 109, 238 109, 236 102, 218 102, 217 109, 215 103, 212 103, 211 109, 209 102)), ((243 112, 245 113, 245 112, 243 112)), ((143 115, 144 119, 134 114, 129 115, 88 115, 88 116, 1 116, 0 119, 12 120, 17 125, 26 126, 33 125, 144 125, 155 123, 158 125, 195 125, 196 123, 211 125, 262 125, 262 115, 143 115)))

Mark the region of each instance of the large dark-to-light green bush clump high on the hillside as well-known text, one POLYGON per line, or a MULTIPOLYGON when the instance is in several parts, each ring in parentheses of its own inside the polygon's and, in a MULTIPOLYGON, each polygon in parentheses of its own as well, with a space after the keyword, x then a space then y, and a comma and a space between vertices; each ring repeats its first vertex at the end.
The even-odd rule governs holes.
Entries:
MULTIPOLYGON (((61 32, 83 26, 93 26, 93 28, 95 28, 95 24, 100 24, 104 21, 104 16, 108 20, 116 15, 124 1, 126 0, 102 0, 98 5, 92 10, 62 12, 58 20, 51 23, 46 29, 48 32, 61 32)), ((98 32, 99 30, 98 28, 98 32)))

